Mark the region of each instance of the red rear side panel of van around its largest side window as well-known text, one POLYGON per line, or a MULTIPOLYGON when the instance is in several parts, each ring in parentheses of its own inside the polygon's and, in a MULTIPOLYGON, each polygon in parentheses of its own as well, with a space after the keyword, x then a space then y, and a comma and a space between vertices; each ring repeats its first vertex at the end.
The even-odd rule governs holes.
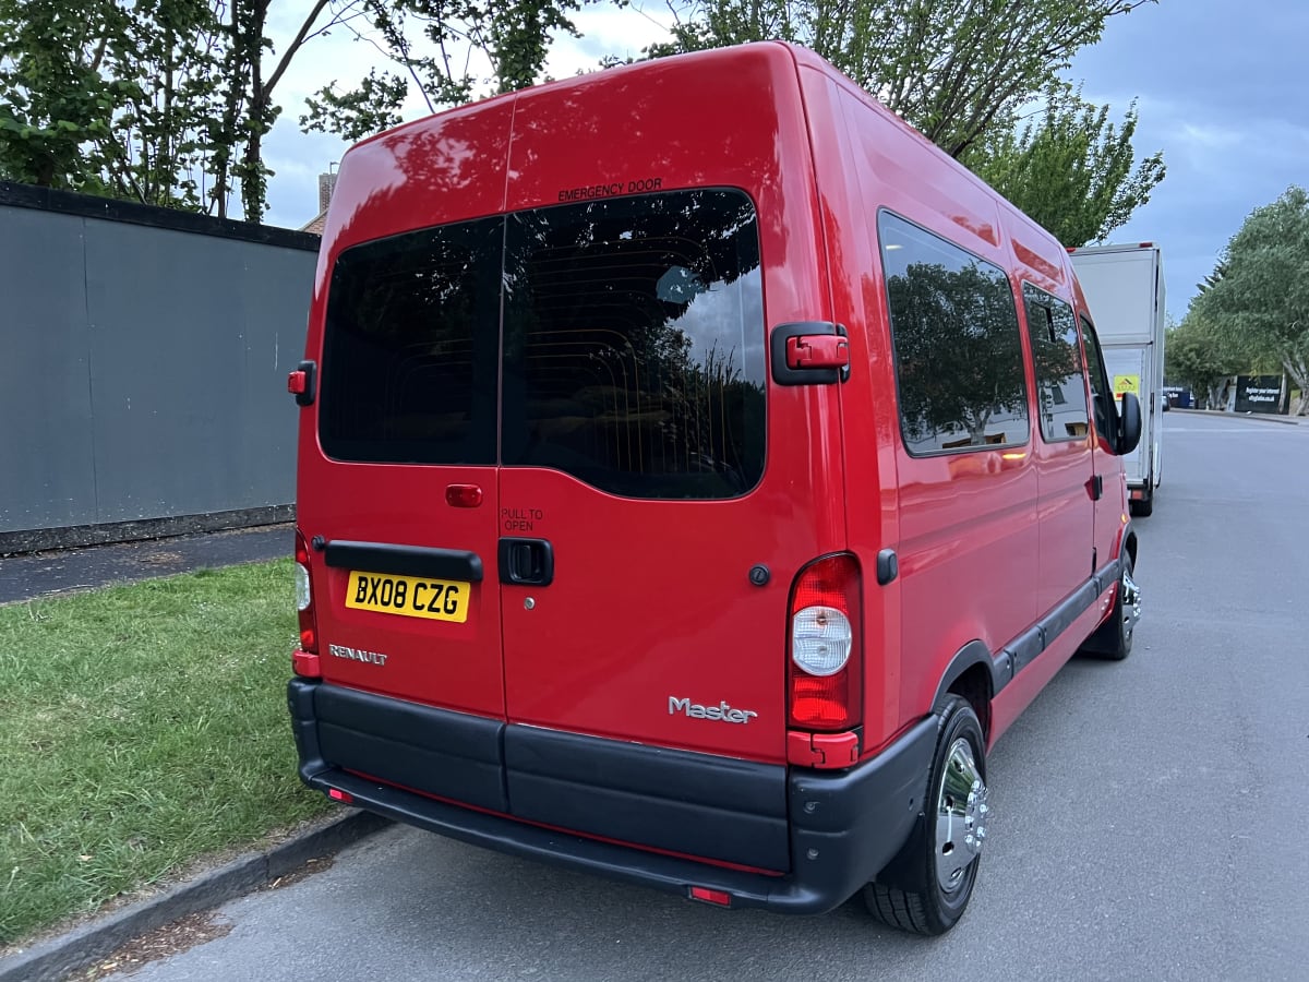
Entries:
MULTIPOLYGON (((903 139, 897 120, 852 86, 834 82, 855 160, 853 181, 864 216, 885 208, 928 232, 946 237, 1001 268, 1012 258, 1003 247, 1000 211, 982 185, 961 174, 922 137, 903 139)), ((880 258, 877 225, 865 221, 860 249, 870 261, 867 309, 881 359, 874 385, 895 391, 893 342, 888 330, 886 282, 880 258)), ((874 342, 870 342, 870 346, 874 342)), ((886 621, 898 626, 888 638, 889 666, 876 685, 898 683, 885 700, 884 729, 869 733, 877 745, 912 723, 931 706, 936 687, 956 652, 982 640, 987 649, 1003 646, 1037 618, 1035 583, 1038 532, 1030 520, 1037 473, 1020 446, 974 450, 967 454, 915 457, 901 439, 895 405, 882 397, 870 410, 885 436, 881 473, 891 475, 895 491, 886 501, 894 524, 852 532, 852 541, 890 533, 882 539, 897 550, 899 577, 884 594, 886 621), (974 589, 982 581, 1012 584, 1003 596, 974 589), (894 708, 891 708, 894 707, 894 708)), ((1020 435, 1030 446, 1030 436, 1020 435)), ((863 516, 851 509, 851 521, 863 516), (856 517, 857 516, 857 517, 856 517)), ((876 551, 876 550, 874 550, 876 551)), ((870 693, 870 698, 873 694, 870 693)))

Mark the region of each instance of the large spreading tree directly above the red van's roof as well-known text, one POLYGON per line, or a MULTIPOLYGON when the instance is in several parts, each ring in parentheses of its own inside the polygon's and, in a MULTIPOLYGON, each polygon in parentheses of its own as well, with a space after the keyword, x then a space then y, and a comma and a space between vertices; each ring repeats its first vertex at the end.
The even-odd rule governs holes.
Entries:
POLYGON ((1157 0, 683 0, 652 56, 781 38, 959 157, 1055 84, 1109 17, 1157 0))

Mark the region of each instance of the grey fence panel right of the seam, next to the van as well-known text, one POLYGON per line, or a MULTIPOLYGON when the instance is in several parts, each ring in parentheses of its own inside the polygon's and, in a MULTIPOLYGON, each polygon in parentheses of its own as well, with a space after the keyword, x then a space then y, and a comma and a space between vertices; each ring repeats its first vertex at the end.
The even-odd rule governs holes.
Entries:
POLYGON ((88 227, 99 521, 295 498, 287 372, 304 347, 313 257, 291 254, 295 270, 279 251, 88 227))

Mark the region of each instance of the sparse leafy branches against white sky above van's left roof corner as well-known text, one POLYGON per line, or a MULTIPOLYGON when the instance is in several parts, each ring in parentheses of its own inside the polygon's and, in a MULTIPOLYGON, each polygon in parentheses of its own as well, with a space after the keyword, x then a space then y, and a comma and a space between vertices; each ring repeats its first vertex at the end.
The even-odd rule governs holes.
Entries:
MULTIPOLYGON (((370 71, 355 89, 325 85, 308 100, 300 118, 305 130, 359 140, 401 120, 401 106, 414 82, 431 111, 457 106, 479 94, 480 63, 491 68, 491 90, 513 92, 541 79, 550 41, 577 37, 569 14, 592 0, 357 0, 360 12, 382 39, 380 50, 398 72, 370 71), (431 52, 431 54, 428 54, 431 52)), ((342 21, 360 41, 370 37, 342 21)), ((376 42, 372 42, 376 43, 376 42)))

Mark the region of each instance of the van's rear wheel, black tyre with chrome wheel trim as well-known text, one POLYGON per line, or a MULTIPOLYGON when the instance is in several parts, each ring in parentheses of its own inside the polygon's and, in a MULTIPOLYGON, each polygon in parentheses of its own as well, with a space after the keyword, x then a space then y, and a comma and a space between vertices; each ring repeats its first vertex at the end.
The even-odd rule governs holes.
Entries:
POLYGON ((873 917, 920 935, 945 934, 967 907, 990 817, 982 724, 957 695, 939 715, 927 808, 901 854, 864 888, 873 917))

